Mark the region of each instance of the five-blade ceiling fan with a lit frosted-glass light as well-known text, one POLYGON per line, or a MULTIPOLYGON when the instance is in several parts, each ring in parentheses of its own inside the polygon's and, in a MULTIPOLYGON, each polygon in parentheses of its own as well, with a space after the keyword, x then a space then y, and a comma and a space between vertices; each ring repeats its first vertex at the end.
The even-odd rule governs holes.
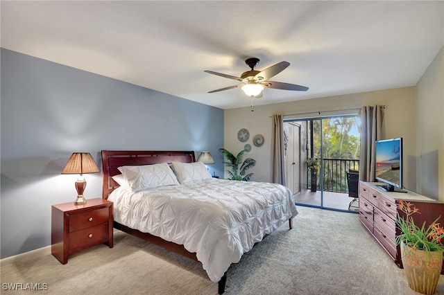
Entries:
POLYGON ((242 82, 242 84, 239 85, 233 85, 221 89, 208 91, 208 93, 214 93, 214 92, 241 87, 241 89, 246 93, 246 95, 252 98, 253 97, 259 98, 262 96, 262 90, 264 90, 264 88, 284 89, 284 90, 294 90, 294 91, 308 90, 308 87, 305 86, 283 83, 283 82, 268 81, 268 79, 274 77, 275 75, 278 75, 278 73, 284 71, 284 69, 287 69, 287 66, 290 65, 289 62, 279 62, 278 64, 275 64, 273 66, 268 67, 267 69, 264 69, 264 71, 255 71, 255 66, 259 64, 259 58, 256 57, 248 58, 245 61, 245 63, 248 64, 248 66, 250 66, 251 70, 242 73, 240 78, 234 75, 226 75, 214 71, 205 71, 205 73, 212 73, 213 75, 220 75, 221 77, 224 78, 242 82))

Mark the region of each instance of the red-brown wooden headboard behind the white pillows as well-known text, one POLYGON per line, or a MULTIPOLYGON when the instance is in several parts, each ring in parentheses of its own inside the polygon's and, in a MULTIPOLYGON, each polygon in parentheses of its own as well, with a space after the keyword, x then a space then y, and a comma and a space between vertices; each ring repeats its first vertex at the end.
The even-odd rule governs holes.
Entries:
POLYGON ((102 198, 108 199, 110 193, 119 187, 119 184, 111 177, 121 174, 117 170, 120 166, 151 165, 171 163, 172 161, 191 163, 196 161, 196 157, 194 156, 194 151, 102 150, 102 198))

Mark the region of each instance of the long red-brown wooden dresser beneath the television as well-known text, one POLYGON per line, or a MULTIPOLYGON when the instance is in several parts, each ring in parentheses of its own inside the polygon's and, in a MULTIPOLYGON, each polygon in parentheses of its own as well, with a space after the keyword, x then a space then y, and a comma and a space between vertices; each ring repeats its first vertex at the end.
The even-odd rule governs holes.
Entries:
MULTIPOLYGON (((398 267, 402 267, 401 249, 395 238, 400 234, 396 226, 398 202, 400 199, 411 202, 420 214, 412 215, 415 224, 432 224, 441 215, 444 223, 444 203, 418 195, 410 190, 407 193, 386 192, 379 183, 359 181, 359 220, 372 233, 398 267)), ((382 184, 383 185, 383 184, 382 184)), ((441 274, 444 274, 444 265, 441 274)))

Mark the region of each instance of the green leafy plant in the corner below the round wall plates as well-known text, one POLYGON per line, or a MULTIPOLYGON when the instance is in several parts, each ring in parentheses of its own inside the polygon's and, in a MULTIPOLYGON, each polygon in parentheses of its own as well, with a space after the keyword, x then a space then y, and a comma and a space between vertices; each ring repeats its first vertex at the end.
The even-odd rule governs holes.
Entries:
POLYGON ((249 181, 251 177, 253 177, 253 173, 246 174, 246 171, 256 165, 256 160, 247 158, 245 161, 242 161, 246 150, 241 150, 241 152, 239 152, 239 154, 237 154, 235 157, 234 154, 228 150, 225 150, 224 148, 220 148, 219 152, 221 152, 224 157, 228 159, 228 162, 223 163, 228 168, 228 175, 230 175, 228 178, 229 180, 249 181))

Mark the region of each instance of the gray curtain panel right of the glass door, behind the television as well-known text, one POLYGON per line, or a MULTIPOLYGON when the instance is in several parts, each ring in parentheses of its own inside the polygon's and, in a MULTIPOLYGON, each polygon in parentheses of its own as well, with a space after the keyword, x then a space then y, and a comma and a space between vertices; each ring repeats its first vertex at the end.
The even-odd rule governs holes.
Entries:
POLYGON ((375 181, 375 141, 381 139, 381 106, 366 106, 360 111, 361 157, 359 159, 359 180, 375 181))

